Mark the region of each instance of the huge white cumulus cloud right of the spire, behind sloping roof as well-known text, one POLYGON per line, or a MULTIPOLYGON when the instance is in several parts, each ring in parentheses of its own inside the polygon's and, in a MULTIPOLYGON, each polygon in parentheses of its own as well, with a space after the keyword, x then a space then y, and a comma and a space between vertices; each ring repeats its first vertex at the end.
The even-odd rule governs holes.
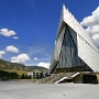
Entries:
POLYGON ((80 24, 87 26, 86 32, 89 33, 91 38, 99 46, 99 7, 92 11, 91 15, 84 18, 80 24))

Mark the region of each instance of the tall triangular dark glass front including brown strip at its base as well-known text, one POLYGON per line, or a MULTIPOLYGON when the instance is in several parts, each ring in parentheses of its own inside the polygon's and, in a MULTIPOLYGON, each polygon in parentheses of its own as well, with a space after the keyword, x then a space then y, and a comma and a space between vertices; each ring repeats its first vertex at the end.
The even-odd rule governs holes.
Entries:
MULTIPOLYGON (((57 72, 82 72, 82 70, 91 70, 89 66, 87 66, 79 57, 77 51, 77 33, 75 33, 74 42, 73 34, 69 31, 69 26, 66 24, 65 33, 63 38, 63 44, 59 54, 59 62, 57 63, 56 70, 57 72)), ((72 29, 70 29, 72 30, 72 29)), ((73 30, 72 30, 73 31, 73 30)))

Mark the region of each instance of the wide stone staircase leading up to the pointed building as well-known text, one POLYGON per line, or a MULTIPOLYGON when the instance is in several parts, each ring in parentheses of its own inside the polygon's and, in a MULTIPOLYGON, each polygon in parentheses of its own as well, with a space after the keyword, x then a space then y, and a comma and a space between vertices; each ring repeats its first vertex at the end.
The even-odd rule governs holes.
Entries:
POLYGON ((72 79, 72 76, 75 75, 74 73, 58 73, 53 74, 52 76, 42 78, 37 80, 37 84, 55 84, 56 81, 61 80, 62 78, 66 77, 67 79, 72 79))

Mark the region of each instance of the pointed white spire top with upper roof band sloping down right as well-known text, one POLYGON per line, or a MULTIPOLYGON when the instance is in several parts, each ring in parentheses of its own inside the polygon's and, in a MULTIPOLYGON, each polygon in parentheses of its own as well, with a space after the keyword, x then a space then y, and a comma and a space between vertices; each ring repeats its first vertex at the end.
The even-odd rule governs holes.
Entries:
POLYGON ((75 19, 75 16, 66 9, 66 7, 63 4, 62 15, 59 20, 59 25, 57 30, 57 35, 61 32, 61 26, 63 25, 63 22, 67 23, 78 35, 84 37, 97 52, 98 48, 94 41, 90 38, 89 34, 86 33, 84 28, 79 24, 79 22, 75 19), (85 33, 84 33, 85 32, 85 33))

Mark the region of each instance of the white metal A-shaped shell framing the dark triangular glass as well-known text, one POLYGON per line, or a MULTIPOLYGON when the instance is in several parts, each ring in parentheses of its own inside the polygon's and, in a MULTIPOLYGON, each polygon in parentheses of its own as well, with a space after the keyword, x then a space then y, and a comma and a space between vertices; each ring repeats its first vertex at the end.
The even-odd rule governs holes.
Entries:
POLYGON ((78 57, 84 61, 94 72, 99 72, 99 50, 91 40, 85 29, 77 22, 75 16, 66 9, 63 4, 63 10, 61 14, 59 25, 57 30, 56 44, 51 62, 51 70, 55 68, 56 63, 61 54, 61 48, 63 44, 63 35, 67 28, 73 36, 74 42, 76 42, 78 57))

